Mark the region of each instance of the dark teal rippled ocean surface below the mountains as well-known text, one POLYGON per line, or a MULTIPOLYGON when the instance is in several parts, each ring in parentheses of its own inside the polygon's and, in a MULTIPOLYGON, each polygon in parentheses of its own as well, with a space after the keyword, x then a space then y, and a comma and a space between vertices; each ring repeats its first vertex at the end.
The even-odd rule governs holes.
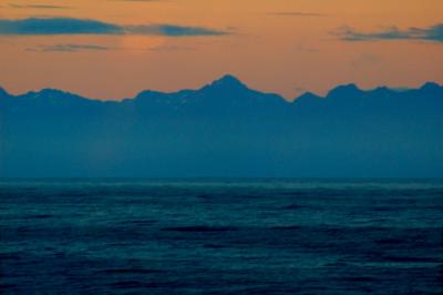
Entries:
POLYGON ((443 180, 0 180, 1 294, 442 294, 443 180))

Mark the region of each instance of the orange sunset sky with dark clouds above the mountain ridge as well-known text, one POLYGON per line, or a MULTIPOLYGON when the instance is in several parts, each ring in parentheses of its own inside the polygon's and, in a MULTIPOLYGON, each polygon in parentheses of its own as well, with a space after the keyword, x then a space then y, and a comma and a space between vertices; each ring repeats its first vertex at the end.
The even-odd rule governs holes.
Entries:
POLYGON ((234 74, 288 100, 443 82, 442 0, 0 0, 0 87, 94 99, 234 74))

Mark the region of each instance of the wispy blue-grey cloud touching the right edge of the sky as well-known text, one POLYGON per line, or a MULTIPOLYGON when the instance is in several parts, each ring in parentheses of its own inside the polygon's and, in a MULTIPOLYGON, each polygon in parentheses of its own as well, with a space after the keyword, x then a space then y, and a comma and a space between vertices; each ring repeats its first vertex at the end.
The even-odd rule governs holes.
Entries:
POLYGON ((344 41, 422 40, 443 42, 443 23, 406 30, 391 27, 377 32, 359 32, 350 27, 341 27, 332 34, 344 41))

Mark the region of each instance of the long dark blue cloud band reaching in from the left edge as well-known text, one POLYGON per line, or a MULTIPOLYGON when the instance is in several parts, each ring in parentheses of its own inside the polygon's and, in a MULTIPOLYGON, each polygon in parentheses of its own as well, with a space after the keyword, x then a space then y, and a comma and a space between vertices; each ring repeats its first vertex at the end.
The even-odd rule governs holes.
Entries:
POLYGON ((154 34, 167 37, 224 35, 228 31, 177 24, 120 26, 74 18, 0 19, 0 35, 154 34))

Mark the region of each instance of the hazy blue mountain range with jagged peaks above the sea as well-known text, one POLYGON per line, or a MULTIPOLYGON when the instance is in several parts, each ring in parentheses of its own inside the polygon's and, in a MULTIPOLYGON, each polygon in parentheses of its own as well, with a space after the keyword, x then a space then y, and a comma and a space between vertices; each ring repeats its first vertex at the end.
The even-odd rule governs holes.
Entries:
POLYGON ((292 102, 225 75, 97 101, 0 88, 0 176, 443 176, 443 87, 292 102))

